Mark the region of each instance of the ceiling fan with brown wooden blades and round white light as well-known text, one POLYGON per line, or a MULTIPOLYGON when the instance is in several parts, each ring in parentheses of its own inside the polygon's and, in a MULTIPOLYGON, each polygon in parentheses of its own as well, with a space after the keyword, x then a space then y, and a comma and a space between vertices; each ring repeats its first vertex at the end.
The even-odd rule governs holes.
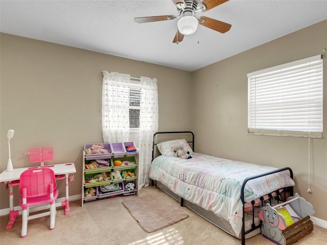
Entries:
POLYGON ((177 32, 173 42, 179 43, 183 40, 184 35, 193 34, 198 25, 210 28, 214 31, 225 33, 229 31, 231 25, 224 23, 220 20, 212 19, 206 16, 195 17, 198 12, 205 12, 212 8, 217 7, 229 0, 203 0, 201 2, 196 0, 172 0, 176 5, 178 16, 174 15, 160 15, 160 16, 149 16, 149 17, 136 17, 134 21, 136 23, 147 23, 161 20, 172 20, 178 19, 177 32))

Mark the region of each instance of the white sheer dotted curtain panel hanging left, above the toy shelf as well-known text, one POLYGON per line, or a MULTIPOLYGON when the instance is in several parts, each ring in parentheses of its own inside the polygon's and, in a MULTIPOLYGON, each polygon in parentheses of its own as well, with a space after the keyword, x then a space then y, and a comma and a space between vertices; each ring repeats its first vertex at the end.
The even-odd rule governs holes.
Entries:
POLYGON ((102 75, 103 142, 127 142, 130 75, 107 71, 103 71, 102 75))

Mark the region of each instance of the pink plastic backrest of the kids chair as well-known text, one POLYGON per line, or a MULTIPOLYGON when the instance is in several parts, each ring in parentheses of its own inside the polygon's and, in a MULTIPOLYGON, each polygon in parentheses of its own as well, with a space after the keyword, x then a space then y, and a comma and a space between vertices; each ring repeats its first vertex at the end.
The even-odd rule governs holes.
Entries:
POLYGON ((51 168, 31 168, 20 174, 19 193, 22 195, 22 189, 26 188, 26 197, 50 194, 56 186, 55 173, 51 168))

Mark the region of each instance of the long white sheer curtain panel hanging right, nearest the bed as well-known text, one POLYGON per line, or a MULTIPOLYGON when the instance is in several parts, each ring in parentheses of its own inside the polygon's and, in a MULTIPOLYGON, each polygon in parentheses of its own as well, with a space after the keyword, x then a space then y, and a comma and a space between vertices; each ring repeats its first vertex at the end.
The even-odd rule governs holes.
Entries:
POLYGON ((141 77, 141 105, 139 112, 139 178, 138 188, 149 185, 153 134, 158 131, 157 79, 141 77))

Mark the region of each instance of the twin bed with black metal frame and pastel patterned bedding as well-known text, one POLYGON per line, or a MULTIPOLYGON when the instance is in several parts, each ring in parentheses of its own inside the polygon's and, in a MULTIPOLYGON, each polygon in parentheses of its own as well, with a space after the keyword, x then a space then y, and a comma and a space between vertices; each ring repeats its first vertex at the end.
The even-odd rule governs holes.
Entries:
POLYGON ((191 131, 154 134, 150 179, 167 194, 225 232, 242 239, 260 233, 258 210, 293 195, 293 173, 193 152, 191 131), (191 147, 190 147, 191 145, 191 147), (192 158, 175 157, 182 146, 192 158))

